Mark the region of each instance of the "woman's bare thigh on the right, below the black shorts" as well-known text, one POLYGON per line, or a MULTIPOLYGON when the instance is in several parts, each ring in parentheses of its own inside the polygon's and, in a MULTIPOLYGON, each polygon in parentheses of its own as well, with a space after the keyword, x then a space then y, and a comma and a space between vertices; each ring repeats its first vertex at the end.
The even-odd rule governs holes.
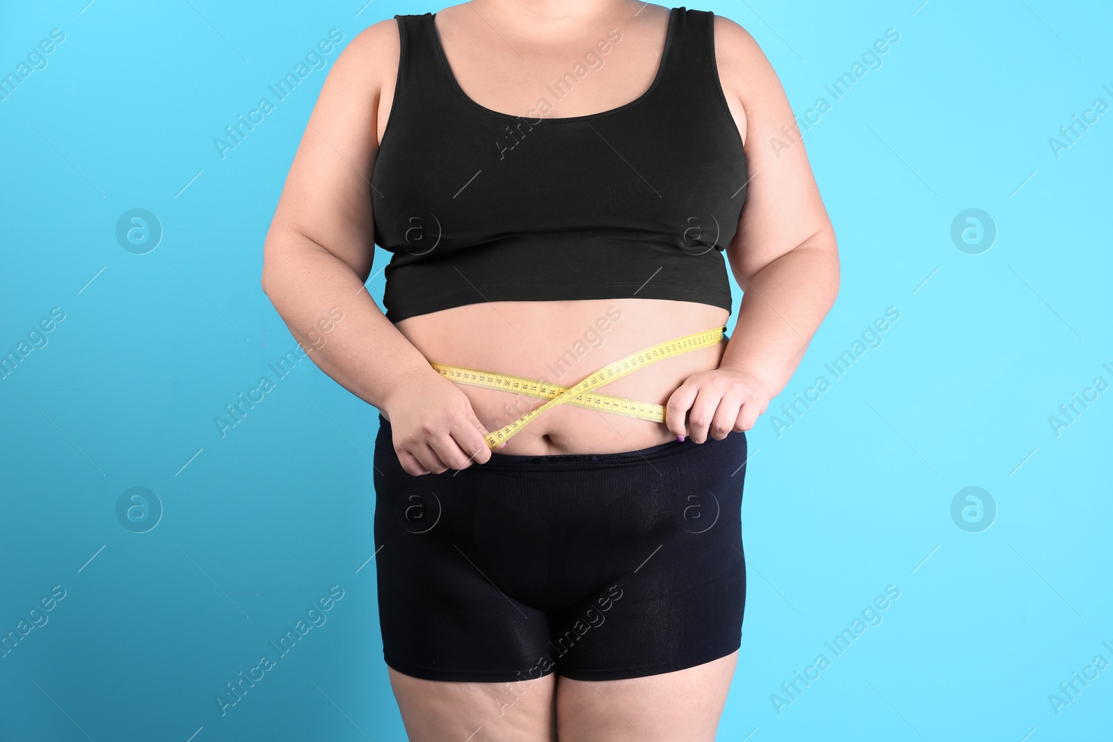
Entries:
POLYGON ((738 663, 732 652, 706 664, 630 680, 560 677, 560 742, 715 742, 738 663))

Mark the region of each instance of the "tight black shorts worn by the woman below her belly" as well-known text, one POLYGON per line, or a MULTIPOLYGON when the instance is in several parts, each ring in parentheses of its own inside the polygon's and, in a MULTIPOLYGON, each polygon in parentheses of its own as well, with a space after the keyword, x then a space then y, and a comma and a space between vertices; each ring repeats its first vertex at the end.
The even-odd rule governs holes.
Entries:
POLYGON ((413 476, 375 441, 386 664, 416 677, 619 680, 739 647, 746 434, 413 476))

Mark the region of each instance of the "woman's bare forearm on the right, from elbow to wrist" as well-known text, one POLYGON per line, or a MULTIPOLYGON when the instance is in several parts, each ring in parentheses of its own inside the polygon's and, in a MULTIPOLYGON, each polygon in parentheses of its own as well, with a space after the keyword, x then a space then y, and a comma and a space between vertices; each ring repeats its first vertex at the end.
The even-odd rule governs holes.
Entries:
POLYGON ((808 343, 838 294, 839 265, 835 237, 819 233, 772 260, 749 281, 736 278, 743 296, 735 334, 721 368, 746 368, 779 394, 804 358, 808 343))

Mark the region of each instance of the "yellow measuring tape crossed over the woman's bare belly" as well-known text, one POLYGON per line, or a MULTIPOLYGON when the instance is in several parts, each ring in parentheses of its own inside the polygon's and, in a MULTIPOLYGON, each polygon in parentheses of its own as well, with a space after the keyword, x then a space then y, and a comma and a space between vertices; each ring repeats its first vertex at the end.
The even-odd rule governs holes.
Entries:
POLYGON ((726 327, 713 327, 711 329, 692 333, 677 337, 664 343, 659 343, 652 347, 632 353, 626 358, 608 364, 593 372, 573 387, 546 384, 539 379, 525 378, 522 376, 511 376, 509 374, 496 374, 494 372, 467 368, 465 366, 453 366, 451 364, 431 363, 433 368, 442 376, 456 384, 469 386, 482 386, 489 389, 502 389, 504 392, 516 392, 539 399, 548 399, 545 404, 536 409, 530 410, 510 425, 494 431, 486 436, 487 447, 495 448, 509 441, 523 427, 529 425, 534 417, 556 405, 573 405, 575 407, 587 407, 600 412, 624 415, 648 419, 654 423, 664 422, 664 407, 651 405, 647 402, 627 399, 624 397, 612 397, 605 394, 590 394, 592 389, 610 384, 611 382, 632 374, 642 366, 663 360, 671 356, 688 353, 697 348, 706 348, 718 344, 722 339, 726 327))

